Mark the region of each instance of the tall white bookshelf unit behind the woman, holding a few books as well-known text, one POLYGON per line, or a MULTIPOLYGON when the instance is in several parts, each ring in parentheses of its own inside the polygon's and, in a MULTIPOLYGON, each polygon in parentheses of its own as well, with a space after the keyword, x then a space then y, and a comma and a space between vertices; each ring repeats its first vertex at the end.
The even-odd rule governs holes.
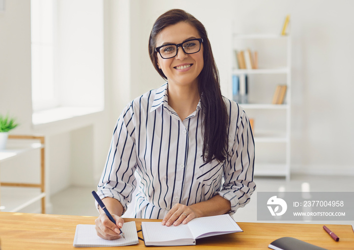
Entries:
MULTIPOLYGON (((285 102, 284 104, 272 104, 272 98, 273 96, 269 96, 267 100, 269 102, 264 101, 253 101, 252 103, 240 103, 240 105, 246 110, 246 113, 258 113, 264 115, 264 113, 267 112, 279 112, 279 115, 277 115, 278 119, 282 119, 284 121, 284 129, 283 130, 277 130, 275 129, 274 131, 270 130, 262 130, 262 124, 257 123, 257 115, 254 117, 250 117, 254 119, 254 122, 257 124, 257 126, 254 126, 254 141, 255 141, 255 147, 256 147, 256 161, 255 161, 255 169, 254 169, 254 175, 256 176, 280 176, 280 177, 285 177, 286 180, 290 179, 290 124, 291 124, 291 39, 289 35, 277 35, 277 34, 234 34, 233 35, 233 52, 235 50, 246 50, 250 49, 251 51, 255 50, 258 52, 258 57, 262 57, 264 61, 267 61, 267 56, 269 55, 264 55, 267 53, 267 45, 264 44, 276 44, 280 43, 285 46, 285 48, 282 48, 280 53, 283 53, 285 55, 278 55, 278 56, 283 56, 283 58, 286 57, 286 59, 281 60, 282 62, 280 65, 271 65, 271 66, 266 66, 267 63, 264 63, 263 65, 258 66, 258 69, 235 69, 233 68, 232 74, 233 75, 242 75, 242 74, 247 74, 248 78, 250 76, 257 76, 257 79, 261 77, 267 77, 268 79, 271 79, 272 77, 274 78, 277 75, 283 75, 281 77, 286 79, 286 82, 282 82, 282 84, 287 85, 287 91, 286 91, 286 97, 285 97, 285 102), (251 47, 251 48, 250 48, 251 47), (257 48, 260 47, 260 48, 257 48), (258 50, 260 49, 260 50, 258 50), (284 52, 283 52, 284 51, 284 52), (265 57, 265 58, 264 58, 265 57), (285 64, 285 65, 284 65, 285 64), (276 145, 278 144, 278 145, 276 145), (273 152, 273 156, 277 158, 279 156, 280 160, 260 160, 257 161, 257 155, 259 151, 257 151, 257 148, 259 145, 263 145, 263 148, 279 148, 281 147, 282 152, 276 151, 273 152), (265 146, 264 146, 265 145, 265 146), (278 154, 278 155, 277 155, 278 154)), ((233 53, 234 55, 235 53, 233 53)), ((278 53, 279 54, 279 53, 278 53)), ((273 60, 274 64, 274 58, 270 58, 273 60)), ((270 80, 268 80, 270 81, 270 80)), ((248 79, 248 89, 251 89, 252 84, 255 84, 255 82, 252 82, 252 80, 248 79)), ((265 83, 268 84, 268 83, 265 83)), ((279 84, 279 82, 274 82, 274 84, 279 84)), ((272 86, 274 88, 274 85, 272 86)), ((271 86, 269 88, 272 88, 271 86)), ((254 92, 257 92, 257 90, 254 90, 254 92)), ((259 91, 258 91, 259 92, 259 91)), ((274 93, 274 92, 273 92, 274 93)), ((257 93, 258 96, 261 93, 257 93)), ((252 93, 248 93, 248 96, 250 97, 252 93)), ((231 97, 232 98, 232 97, 231 97)), ((276 126, 275 126, 276 128, 276 126)))

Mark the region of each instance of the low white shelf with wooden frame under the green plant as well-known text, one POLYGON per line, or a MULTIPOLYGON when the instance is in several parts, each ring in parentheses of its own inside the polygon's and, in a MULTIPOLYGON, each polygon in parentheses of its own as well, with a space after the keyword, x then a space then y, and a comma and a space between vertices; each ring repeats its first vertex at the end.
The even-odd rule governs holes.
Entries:
MULTIPOLYGON (((0 182, 0 212, 18 212, 41 200, 41 213, 46 213, 45 192, 45 138, 43 136, 10 135, 7 148, 0 150, 0 163, 40 150, 40 182, 0 182)), ((6 179, 6 177, 4 178, 6 179)))

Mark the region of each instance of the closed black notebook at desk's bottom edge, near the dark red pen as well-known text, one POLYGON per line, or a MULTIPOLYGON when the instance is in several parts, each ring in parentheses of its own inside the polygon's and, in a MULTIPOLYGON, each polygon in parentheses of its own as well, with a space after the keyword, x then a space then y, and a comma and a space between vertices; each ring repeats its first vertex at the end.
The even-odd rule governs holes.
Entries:
POLYGON ((327 250, 317 245, 313 245, 292 237, 282 237, 276 239, 270 243, 268 247, 274 250, 327 250))

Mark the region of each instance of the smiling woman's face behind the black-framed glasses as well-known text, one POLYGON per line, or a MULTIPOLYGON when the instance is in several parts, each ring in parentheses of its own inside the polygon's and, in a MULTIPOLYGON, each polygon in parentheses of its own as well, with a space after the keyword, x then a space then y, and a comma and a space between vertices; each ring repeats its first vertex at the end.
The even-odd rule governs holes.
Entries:
MULTIPOLYGON (((163 44, 181 44, 193 38, 201 38, 198 30, 189 23, 179 22, 160 31, 156 36, 156 47, 163 44)), ((175 57, 163 59, 159 53, 156 53, 156 56, 157 65, 167 77, 168 84, 198 85, 198 75, 204 66, 203 44, 195 54, 185 54, 179 47, 175 57)))

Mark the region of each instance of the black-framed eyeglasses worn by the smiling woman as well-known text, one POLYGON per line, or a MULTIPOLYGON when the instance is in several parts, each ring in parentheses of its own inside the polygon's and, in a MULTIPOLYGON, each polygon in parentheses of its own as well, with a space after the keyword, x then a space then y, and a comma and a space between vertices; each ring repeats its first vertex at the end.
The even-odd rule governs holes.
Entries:
POLYGON ((200 51, 203 38, 194 38, 184 41, 181 44, 166 44, 155 49, 163 59, 175 57, 178 53, 178 47, 181 47, 185 54, 194 54, 200 51))

